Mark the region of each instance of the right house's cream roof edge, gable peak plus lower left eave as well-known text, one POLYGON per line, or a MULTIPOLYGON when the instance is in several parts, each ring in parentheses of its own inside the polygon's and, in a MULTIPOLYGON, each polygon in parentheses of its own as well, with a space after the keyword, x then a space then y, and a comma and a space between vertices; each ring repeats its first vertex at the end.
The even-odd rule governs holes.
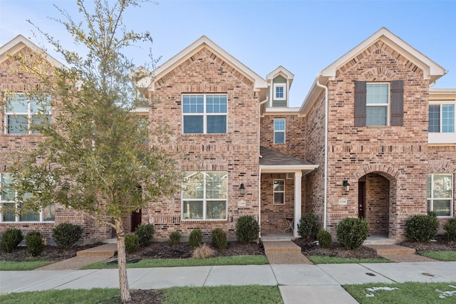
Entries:
POLYGON ((440 65, 430 60, 430 58, 427 58, 415 48, 410 46, 410 44, 406 43, 401 38, 388 31, 387 28, 383 27, 373 33, 373 35, 367 38, 365 41, 358 44, 358 46, 351 49, 351 51, 348 51, 348 53, 343 55, 341 58, 338 58, 338 60, 331 63, 331 65, 328 65, 326 68, 321 70, 316 80, 314 81, 314 84, 311 86, 311 90, 309 90, 304 103, 301 106, 301 112, 306 115, 310 109, 311 103, 313 103, 315 98, 321 93, 321 90, 323 90, 322 88, 318 87, 317 82, 324 85, 328 82, 328 80, 333 80, 336 77, 336 71, 338 68, 346 65, 348 61, 351 61, 353 58, 358 56, 360 53, 365 51, 366 48, 377 41, 383 41, 395 51, 400 53, 401 56, 404 56, 409 61, 421 68, 423 70, 423 77, 425 79, 429 79, 430 83, 434 83, 438 78, 442 77, 448 72, 440 65))

